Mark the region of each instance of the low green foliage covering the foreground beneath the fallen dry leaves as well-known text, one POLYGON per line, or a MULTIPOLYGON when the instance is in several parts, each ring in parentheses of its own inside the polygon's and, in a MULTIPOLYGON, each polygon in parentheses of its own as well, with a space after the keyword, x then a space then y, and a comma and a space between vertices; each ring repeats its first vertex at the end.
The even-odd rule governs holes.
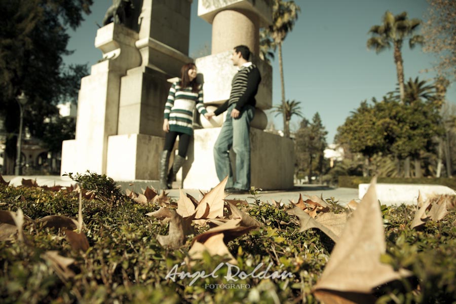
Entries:
MULTIPOLYGON (((204 254, 191 268, 181 263, 188 257, 194 235, 207 231, 195 225, 195 234, 177 249, 164 248, 157 235, 167 235, 169 223, 145 214, 159 203, 138 203, 111 187, 111 180, 97 175, 84 177, 93 199, 82 199, 84 233, 89 248, 75 250, 65 233, 43 223, 25 221, 24 241, 16 235, 0 241, 0 301, 3 303, 286 303, 319 302, 313 287, 331 257, 334 242, 320 230, 299 232, 299 223, 285 208, 263 204, 243 207, 263 224, 227 243, 227 248, 245 273, 258 264, 293 274, 291 278, 238 278, 236 286, 219 288, 227 269, 218 278, 166 278, 175 265, 180 270, 211 273, 220 256, 204 254), (91 183, 91 185, 89 185, 91 183), (108 190, 106 190, 108 189, 108 190), (49 258, 49 251, 73 259, 62 267, 49 258)), ((297 198, 296 198, 297 199, 297 198)), ((330 212, 342 212, 327 200, 330 212)), ((40 187, 0 185, 0 210, 17 211, 31 219, 48 215, 78 217, 77 192, 53 192, 40 187)), ((412 275, 372 290, 379 303, 450 303, 456 301, 456 212, 440 221, 427 221, 412 229, 413 206, 382 206, 386 253, 383 262, 412 275)), ((5 223, 5 217, 0 216, 5 223)), ((0 231, 2 231, 0 226, 0 231)), ((0 234, 1 235, 1 234, 0 234)), ((4 236, 5 237, 5 236, 4 236)))

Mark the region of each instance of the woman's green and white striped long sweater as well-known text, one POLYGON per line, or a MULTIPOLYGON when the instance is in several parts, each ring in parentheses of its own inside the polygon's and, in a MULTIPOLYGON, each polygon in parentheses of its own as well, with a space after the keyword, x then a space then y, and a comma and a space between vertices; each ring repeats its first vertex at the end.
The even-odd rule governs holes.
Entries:
POLYGON ((198 92, 192 92, 192 87, 182 88, 180 82, 173 83, 164 111, 169 130, 193 135, 195 107, 201 114, 207 113, 203 105, 203 86, 198 87, 198 92))

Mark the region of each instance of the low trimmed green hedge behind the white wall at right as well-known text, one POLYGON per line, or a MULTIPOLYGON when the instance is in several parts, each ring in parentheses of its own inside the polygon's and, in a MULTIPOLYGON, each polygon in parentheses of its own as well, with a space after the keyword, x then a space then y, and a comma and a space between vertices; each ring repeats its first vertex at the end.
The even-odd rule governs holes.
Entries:
MULTIPOLYGON (((369 183, 372 177, 364 176, 339 176, 338 186, 347 188, 358 188, 360 183, 369 183)), ((408 184, 433 184, 443 185, 456 189, 456 178, 394 178, 394 177, 378 177, 378 183, 408 183, 408 184)))

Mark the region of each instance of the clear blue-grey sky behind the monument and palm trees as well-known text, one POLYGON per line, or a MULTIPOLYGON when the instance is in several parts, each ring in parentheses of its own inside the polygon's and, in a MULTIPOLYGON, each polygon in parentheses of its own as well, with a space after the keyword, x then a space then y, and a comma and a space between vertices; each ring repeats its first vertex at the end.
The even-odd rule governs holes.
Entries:
MULTIPOLYGON (((183 1, 183 0, 182 0, 183 1)), ((319 112, 328 131, 327 142, 333 141, 337 127, 344 124, 350 112, 360 102, 372 97, 381 99, 396 87, 396 67, 392 50, 376 54, 367 50, 367 31, 381 24, 389 10, 393 14, 403 11, 409 18, 424 18, 426 0, 319 0, 295 1, 301 8, 296 25, 283 44, 285 98, 301 102, 301 112, 308 120, 319 112)), ((68 49, 74 53, 64 58, 65 63, 95 64, 102 56, 94 45, 96 30, 111 0, 96 0, 92 14, 76 30, 69 30, 68 49)), ((211 25, 198 17, 198 1, 192 4, 189 54, 210 46, 211 25)), ((435 57, 423 53, 420 47, 403 49, 405 79, 419 77, 432 79, 433 72, 420 72, 432 67, 435 57)), ((273 103, 281 102, 279 63, 273 66, 273 103)), ((456 85, 447 94, 449 102, 456 104, 456 85)), ((282 129, 282 118, 270 116, 277 129, 282 129)), ((299 117, 292 119, 297 128, 299 117)))

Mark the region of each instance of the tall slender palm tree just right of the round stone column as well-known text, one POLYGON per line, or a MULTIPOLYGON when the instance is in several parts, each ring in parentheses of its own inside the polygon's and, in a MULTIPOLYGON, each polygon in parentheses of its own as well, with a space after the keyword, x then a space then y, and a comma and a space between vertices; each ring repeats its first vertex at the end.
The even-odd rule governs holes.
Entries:
MULTIPOLYGON (((282 87, 282 109, 286 108, 285 101, 285 82, 283 77, 283 58, 282 58, 282 43, 285 40, 288 32, 293 29, 294 23, 297 20, 297 15, 301 11, 299 6, 294 1, 274 0, 273 4, 273 24, 266 29, 267 34, 272 37, 275 45, 279 48, 279 69, 280 81, 282 87)), ((290 136, 290 129, 287 124, 286 115, 283 116, 283 131, 284 136, 290 136)))

